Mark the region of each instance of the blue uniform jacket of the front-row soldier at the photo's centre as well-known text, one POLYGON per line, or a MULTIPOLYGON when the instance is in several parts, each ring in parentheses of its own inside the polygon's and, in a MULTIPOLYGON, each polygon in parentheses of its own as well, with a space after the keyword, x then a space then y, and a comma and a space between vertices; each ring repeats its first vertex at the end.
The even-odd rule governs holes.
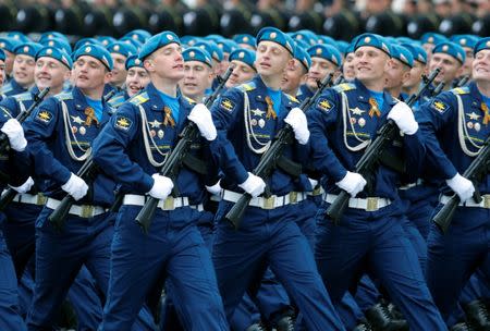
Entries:
MULTIPOLYGON (((215 125, 218 130, 218 138, 211 144, 213 160, 224 173, 221 185, 224 188, 242 192, 237 184, 245 182, 248 174, 258 164, 261 154, 255 154, 246 142, 247 133, 245 121, 252 126, 255 138, 260 144, 266 144, 274 138, 279 130, 284 126, 284 119, 294 107, 298 106, 295 98, 282 94, 281 111, 274 120, 267 119, 267 87, 260 76, 238 87, 231 88, 218 99, 211 108, 215 125), (250 117, 245 119, 244 94, 248 95, 250 117)), ((254 148, 259 145, 254 137, 250 144, 254 148)), ((309 143, 299 145, 296 140, 284 149, 284 156, 293 161, 305 164, 308 160, 309 143)), ((306 179, 303 176, 303 181, 306 179)), ((292 177, 280 169, 275 169, 269 180, 266 181, 270 192, 275 195, 284 195, 292 191, 304 191, 305 186, 311 189, 308 183, 302 183, 301 179, 292 177), (309 185, 309 186, 308 186, 309 185)))

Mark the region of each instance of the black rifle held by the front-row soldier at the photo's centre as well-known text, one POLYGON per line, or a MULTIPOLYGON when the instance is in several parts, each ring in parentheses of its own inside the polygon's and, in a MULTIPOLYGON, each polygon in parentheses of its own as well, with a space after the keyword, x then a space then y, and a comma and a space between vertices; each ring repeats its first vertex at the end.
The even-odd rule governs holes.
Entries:
MULTIPOLYGON (((314 102, 318 99, 318 97, 323 93, 324 88, 330 86, 332 77, 333 74, 330 74, 326 76, 323 81, 317 83, 318 89, 311 97, 303 100, 303 102, 299 105, 299 109, 303 111, 307 111, 311 107, 311 105, 314 105, 314 102)), ((286 123, 284 127, 282 127, 278 132, 274 142, 271 144, 269 149, 262 155, 259 163, 254 169, 253 173, 264 180, 269 177, 271 172, 279 166, 280 162, 282 162, 283 159, 282 152, 287 145, 293 143, 293 139, 294 139, 293 127, 286 123)), ((252 195, 248 193, 244 193, 224 217, 224 219, 229 221, 235 230, 238 229, 240 221, 242 220, 243 214, 245 213, 245 210, 250 200, 252 195)))

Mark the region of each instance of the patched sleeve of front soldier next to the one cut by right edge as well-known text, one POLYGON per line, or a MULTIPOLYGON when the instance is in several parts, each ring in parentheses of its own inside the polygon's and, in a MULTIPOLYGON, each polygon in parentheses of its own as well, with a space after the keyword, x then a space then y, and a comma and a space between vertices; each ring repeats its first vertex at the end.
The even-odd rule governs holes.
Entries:
POLYGON ((341 111, 342 102, 339 95, 327 90, 307 112, 314 168, 331 176, 335 182, 341 181, 347 170, 330 148, 327 132, 335 125, 341 111))

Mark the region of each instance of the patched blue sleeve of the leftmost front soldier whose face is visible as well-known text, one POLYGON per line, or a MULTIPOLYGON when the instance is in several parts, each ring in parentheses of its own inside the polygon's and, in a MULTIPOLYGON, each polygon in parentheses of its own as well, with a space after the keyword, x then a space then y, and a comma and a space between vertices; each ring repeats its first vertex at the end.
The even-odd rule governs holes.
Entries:
POLYGON ((59 106, 54 98, 44 101, 33 112, 32 120, 24 122, 24 133, 35 173, 62 185, 69 181, 71 171, 48 148, 49 142, 64 138, 58 136, 56 131, 58 121, 62 121, 59 106))

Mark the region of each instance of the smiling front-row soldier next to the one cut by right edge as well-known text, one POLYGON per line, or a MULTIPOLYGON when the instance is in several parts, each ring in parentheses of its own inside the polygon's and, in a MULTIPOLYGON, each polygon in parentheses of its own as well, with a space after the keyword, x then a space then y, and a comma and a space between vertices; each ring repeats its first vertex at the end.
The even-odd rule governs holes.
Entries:
POLYGON ((317 224, 318 269, 335 303, 368 271, 381 281, 412 330, 443 330, 417 255, 400 224, 399 174, 380 166, 366 186, 354 168, 377 130, 392 119, 404 133, 407 170, 417 171, 425 151, 421 135, 409 107, 383 93, 390 61, 387 41, 364 34, 355 45, 355 57, 357 79, 326 91, 308 112, 313 161, 326 175, 327 204, 336 198, 339 188, 351 195, 339 225, 330 219, 317 224))

